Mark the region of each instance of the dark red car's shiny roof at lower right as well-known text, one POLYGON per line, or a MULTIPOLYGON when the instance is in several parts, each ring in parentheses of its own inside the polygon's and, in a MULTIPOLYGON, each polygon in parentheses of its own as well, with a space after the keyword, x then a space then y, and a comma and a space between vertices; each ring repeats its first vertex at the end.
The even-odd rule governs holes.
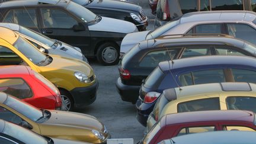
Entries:
POLYGON ((245 121, 253 123, 254 113, 243 110, 190 111, 184 113, 167 114, 161 119, 166 119, 166 125, 194 123, 200 121, 245 121))

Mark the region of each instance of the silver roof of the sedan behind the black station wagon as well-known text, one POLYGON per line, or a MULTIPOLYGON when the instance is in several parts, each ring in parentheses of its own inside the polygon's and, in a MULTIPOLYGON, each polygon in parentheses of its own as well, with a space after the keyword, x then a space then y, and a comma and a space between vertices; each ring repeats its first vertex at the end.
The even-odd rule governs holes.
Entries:
POLYGON ((251 11, 201 11, 184 14, 180 23, 195 21, 253 21, 256 13, 251 11))

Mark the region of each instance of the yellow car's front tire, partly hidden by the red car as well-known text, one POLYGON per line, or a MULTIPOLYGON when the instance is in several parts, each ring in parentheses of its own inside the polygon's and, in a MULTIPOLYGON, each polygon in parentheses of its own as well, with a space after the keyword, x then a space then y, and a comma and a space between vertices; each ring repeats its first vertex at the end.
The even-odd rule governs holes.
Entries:
POLYGON ((62 98, 62 111, 73 111, 73 98, 72 96, 69 94, 69 92, 63 90, 63 89, 59 89, 60 91, 60 97, 62 98))

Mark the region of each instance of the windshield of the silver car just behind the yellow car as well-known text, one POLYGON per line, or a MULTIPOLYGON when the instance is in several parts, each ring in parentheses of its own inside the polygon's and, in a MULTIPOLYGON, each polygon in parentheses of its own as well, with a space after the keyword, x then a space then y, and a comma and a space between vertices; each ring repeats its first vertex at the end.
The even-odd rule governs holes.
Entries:
POLYGON ((46 37, 43 34, 37 33, 36 31, 28 30, 25 27, 20 26, 19 32, 21 34, 24 34, 25 36, 31 37, 32 39, 40 41, 43 44, 46 44, 49 47, 52 47, 55 44, 55 41, 50 39, 49 37, 46 37))

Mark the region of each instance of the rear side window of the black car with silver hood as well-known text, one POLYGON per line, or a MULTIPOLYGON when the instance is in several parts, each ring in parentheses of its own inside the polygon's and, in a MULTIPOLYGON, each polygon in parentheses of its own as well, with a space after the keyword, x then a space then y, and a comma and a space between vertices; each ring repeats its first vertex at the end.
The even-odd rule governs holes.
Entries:
POLYGON ((36 9, 13 9, 8 12, 3 22, 15 23, 28 28, 36 28, 36 9))

